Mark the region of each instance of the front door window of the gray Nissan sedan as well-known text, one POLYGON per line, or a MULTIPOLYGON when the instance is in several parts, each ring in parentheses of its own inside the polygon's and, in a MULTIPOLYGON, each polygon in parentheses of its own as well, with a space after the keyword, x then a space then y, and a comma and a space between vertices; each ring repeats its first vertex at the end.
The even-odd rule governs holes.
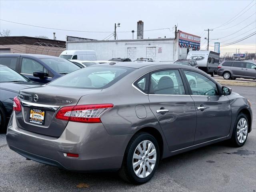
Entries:
POLYGON ((216 84, 206 76, 194 71, 184 70, 184 73, 188 80, 192 95, 219 95, 216 84))

